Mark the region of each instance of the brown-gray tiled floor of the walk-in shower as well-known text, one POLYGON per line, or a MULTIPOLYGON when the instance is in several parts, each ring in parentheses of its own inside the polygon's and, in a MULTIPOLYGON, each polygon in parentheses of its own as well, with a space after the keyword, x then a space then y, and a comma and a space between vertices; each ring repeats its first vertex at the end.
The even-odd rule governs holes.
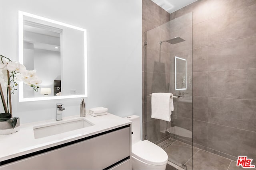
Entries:
MULTIPOLYGON (((176 169, 186 169, 182 164, 186 165, 187 169, 192 169, 192 146, 175 139, 167 139, 158 144, 168 154, 168 162, 172 166, 167 166, 166 169, 177 165, 176 169)), ((193 147, 193 169, 194 170, 242 170, 242 167, 237 167, 236 162, 228 158, 224 158, 217 154, 193 147)), ((171 169, 172 169, 171 168, 171 169)), ((256 170, 256 168, 253 168, 256 170)))

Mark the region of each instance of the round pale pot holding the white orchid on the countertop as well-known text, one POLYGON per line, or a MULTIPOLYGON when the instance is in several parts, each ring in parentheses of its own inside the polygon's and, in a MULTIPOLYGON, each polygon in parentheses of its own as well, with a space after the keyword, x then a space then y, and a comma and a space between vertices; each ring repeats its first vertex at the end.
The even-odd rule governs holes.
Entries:
POLYGON ((0 119, 0 135, 12 134, 20 130, 20 118, 11 118, 10 113, 1 113, 0 119))

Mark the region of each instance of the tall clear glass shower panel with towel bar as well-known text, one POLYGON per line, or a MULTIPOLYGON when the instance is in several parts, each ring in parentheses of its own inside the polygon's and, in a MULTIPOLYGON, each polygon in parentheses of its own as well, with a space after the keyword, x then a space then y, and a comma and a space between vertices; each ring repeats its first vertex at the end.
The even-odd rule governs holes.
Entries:
MULTIPOLYGON (((144 33, 144 139, 162 147, 168 164, 192 165, 192 13, 144 33), (172 93, 171 121, 151 118, 151 96, 172 93)), ((194 150, 196 152, 196 150, 194 150)))

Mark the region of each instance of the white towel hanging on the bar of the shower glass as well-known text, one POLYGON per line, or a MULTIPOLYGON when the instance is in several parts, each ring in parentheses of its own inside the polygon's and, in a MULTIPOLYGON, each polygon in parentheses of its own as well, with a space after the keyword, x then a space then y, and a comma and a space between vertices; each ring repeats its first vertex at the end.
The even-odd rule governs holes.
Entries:
POLYGON ((171 93, 152 93, 151 96, 151 117, 171 121, 171 114, 174 111, 173 98, 171 93))

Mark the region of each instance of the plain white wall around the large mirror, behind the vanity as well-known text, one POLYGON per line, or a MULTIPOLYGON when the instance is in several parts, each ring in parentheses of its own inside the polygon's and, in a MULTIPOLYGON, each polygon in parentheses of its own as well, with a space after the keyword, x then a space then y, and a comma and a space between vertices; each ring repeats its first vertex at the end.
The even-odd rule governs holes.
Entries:
MULTIPOLYGON (((88 98, 86 108, 104 106, 121 117, 142 116, 141 0, 1 0, 2 55, 18 60, 18 10, 87 29, 88 98)), ((79 83, 79 76, 77 82, 79 83)), ((55 118, 56 103, 64 116, 79 114, 80 98, 18 102, 13 115, 21 123, 55 118)), ((2 109, 1 109, 2 110, 2 109)))

